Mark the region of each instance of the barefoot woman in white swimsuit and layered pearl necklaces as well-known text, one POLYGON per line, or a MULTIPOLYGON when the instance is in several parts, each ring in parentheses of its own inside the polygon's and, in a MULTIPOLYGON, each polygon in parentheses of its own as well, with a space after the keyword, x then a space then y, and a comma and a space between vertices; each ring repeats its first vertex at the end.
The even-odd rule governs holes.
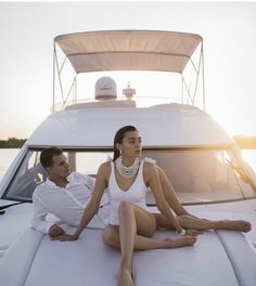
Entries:
MULTIPOLYGON (((181 206, 164 171, 155 164, 140 160, 141 138, 132 126, 119 129, 114 139, 113 161, 100 166, 92 198, 86 208, 80 224, 74 235, 61 235, 60 240, 75 240, 97 213, 104 190, 111 202, 110 225, 103 231, 107 245, 120 248, 121 262, 118 285, 133 285, 132 253, 133 249, 174 248, 191 246, 193 236, 181 236, 177 239, 158 240, 152 238, 159 226, 174 229, 184 235, 182 229, 230 229, 246 231, 248 225, 243 221, 208 221, 190 216, 181 206), (145 194, 151 187, 156 206, 161 213, 146 210, 145 194), (163 188, 162 188, 163 186, 163 188), (170 192, 170 190, 172 192, 170 192), (178 214, 174 216, 172 211, 178 214)), ((196 231, 192 234, 197 234, 196 231)))

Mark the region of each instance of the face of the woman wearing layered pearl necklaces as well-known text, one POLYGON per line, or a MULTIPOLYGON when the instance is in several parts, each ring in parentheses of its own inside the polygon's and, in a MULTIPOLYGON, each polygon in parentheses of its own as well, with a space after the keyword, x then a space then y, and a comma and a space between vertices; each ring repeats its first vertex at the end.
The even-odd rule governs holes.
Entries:
POLYGON ((142 145, 138 131, 126 132, 123 142, 116 146, 121 152, 123 157, 137 158, 141 156, 142 145))

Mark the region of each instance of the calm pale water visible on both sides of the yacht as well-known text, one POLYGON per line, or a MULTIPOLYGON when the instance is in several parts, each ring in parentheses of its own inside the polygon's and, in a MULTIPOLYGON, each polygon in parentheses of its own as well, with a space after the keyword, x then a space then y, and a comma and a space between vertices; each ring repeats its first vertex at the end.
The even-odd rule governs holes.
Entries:
MULTIPOLYGON (((0 148, 0 181, 18 151, 20 148, 0 148)), ((256 150, 244 150, 243 157, 256 172, 256 150)))

